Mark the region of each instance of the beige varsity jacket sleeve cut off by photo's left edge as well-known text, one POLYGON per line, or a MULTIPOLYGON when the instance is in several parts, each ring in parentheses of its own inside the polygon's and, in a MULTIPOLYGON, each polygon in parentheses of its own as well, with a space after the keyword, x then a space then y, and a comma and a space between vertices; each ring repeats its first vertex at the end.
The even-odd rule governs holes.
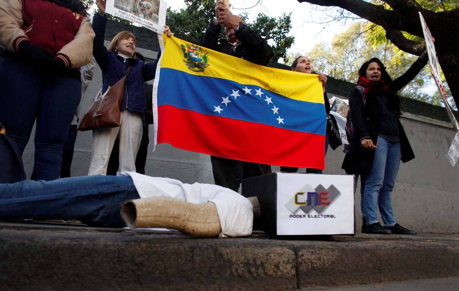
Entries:
POLYGON ((19 52, 22 41, 28 40, 22 26, 22 1, 0 0, 0 45, 19 52))

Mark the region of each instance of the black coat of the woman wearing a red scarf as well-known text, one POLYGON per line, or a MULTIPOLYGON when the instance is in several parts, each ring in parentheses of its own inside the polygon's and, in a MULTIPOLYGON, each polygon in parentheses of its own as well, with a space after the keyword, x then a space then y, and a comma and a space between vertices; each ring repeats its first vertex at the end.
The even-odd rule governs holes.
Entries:
MULTIPOLYGON (((397 79, 393 80, 387 91, 381 92, 385 94, 392 102, 394 111, 400 111, 398 96, 396 92, 406 86, 411 80, 416 77, 420 70, 427 63, 427 56, 422 54, 416 62, 397 79)), ((378 92, 369 92, 365 107, 362 103, 362 95, 358 89, 354 88, 349 95, 349 106, 351 108, 352 122, 354 126, 354 135, 352 137, 352 148, 344 157, 341 168, 353 174, 366 174, 371 169, 375 150, 364 148, 360 145, 360 140, 364 137, 370 137, 374 144, 378 140, 378 128, 380 128, 380 120, 378 117, 378 92)), ((400 119, 397 117, 398 134, 400 138, 400 148, 402 153, 402 162, 408 162, 414 159, 413 149, 409 144, 408 137, 403 130, 400 119)))

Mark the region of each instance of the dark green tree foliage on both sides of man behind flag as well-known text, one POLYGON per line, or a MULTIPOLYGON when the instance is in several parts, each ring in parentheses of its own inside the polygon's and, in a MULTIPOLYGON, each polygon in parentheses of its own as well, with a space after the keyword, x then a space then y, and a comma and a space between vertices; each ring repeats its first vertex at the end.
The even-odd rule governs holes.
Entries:
MULTIPOLYGON (((186 8, 167 11, 166 24, 169 25, 174 35, 191 41, 199 41, 204 34, 207 25, 214 22, 215 1, 213 0, 185 0, 186 8)), ((291 47, 294 37, 288 35, 291 29, 291 14, 283 14, 281 17, 269 17, 263 13, 258 14, 255 21, 247 21, 248 14, 240 16, 246 19, 247 25, 260 34, 274 51, 273 61, 285 57, 287 50, 291 47)), ((221 37, 224 38, 222 29, 221 37)))

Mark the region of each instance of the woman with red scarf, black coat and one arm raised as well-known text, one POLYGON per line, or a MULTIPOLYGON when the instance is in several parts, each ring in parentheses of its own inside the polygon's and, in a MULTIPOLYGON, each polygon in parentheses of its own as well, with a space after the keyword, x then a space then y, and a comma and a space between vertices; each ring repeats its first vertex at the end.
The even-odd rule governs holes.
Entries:
POLYGON ((400 123, 397 91, 416 77, 427 63, 424 52, 408 71, 395 80, 377 58, 365 62, 358 71, 357 86, 349 96, 354 126, 351 151, 343 168, 366 177, 364 186, 362 232, 367 234, 416 234, 396 223, 391 193, 400 160, 414 159, 414 153, 400 123), (361 92, 362 91, 362 92, 361 92), (384 227, 378 222, 378 207, 384 227))

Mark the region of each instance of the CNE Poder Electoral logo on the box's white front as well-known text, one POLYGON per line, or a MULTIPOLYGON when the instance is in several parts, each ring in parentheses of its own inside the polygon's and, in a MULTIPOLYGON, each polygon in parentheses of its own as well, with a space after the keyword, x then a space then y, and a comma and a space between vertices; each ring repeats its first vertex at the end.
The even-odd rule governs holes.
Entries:
POLYGON ((333 214, 321 214, 341 194, 334 186, 325 188, 321 184, 313 188, 306 184, 285 204, 291 218, 335 218, 333 214), (306 198, 306 200, 305 200, 306 198), (314 210, 317 214, 311 214, 314 210))

